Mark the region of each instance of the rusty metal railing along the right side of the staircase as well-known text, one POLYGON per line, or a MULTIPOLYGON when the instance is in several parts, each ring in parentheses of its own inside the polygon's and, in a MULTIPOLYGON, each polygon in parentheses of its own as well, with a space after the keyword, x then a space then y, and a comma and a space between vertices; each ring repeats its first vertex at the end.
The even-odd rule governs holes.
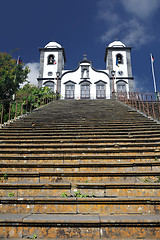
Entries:
POLYGON ((160 120, 160 98, 155 93, 117 92, 116 98, 146 116, 160 120))

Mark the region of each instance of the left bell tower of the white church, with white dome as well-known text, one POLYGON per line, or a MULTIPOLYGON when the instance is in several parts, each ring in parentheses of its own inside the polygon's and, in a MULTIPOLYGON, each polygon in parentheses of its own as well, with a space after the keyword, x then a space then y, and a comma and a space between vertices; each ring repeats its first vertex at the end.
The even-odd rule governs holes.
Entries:
POLYGON ((38 87, 50 87, 54 92, 57 90, 60 92, 60 76, 66 62, 64 48, 56 42, 49 42, 44 48, 40 48, 39 51, 38 87))

